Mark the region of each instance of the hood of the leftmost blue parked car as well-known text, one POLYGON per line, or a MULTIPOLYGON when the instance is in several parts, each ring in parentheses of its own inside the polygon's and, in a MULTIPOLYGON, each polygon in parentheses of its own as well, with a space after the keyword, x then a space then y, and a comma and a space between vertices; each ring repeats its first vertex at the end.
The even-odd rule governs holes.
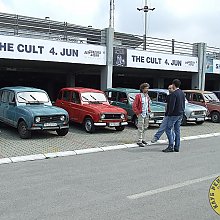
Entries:
POLYGON ((31 112, 34 116, 43 116, 43 115, 67 115, 66 110, 49 105, 26 105, 26 106, 18 106, 20 109, 25 109, 31 112))

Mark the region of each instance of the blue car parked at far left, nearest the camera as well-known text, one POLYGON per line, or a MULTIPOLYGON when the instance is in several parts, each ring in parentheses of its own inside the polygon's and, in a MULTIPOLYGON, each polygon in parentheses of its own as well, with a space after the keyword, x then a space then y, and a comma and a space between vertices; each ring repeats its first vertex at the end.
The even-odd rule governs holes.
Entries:
POLYGON ((55 130, 59 136, 69 130, 68 113, 52 106, 45 91, 29 87, 0 89, 0 121, 17 128, 25 139, 36 130, 55 130))

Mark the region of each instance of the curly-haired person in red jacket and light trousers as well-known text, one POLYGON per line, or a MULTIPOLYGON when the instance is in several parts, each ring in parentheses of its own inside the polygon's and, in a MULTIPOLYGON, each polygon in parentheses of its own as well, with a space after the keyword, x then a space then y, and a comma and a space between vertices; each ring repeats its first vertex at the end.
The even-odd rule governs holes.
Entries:
POLYGON ((140 92, 135 96, 133 102, 133 111, 138 118, 138 142, 140 147, 145 147, 147 142, 144 140, 144 133, 149 126, 149 114, 150 114, 150 97, 148 95, 148 89, 150 85, 148 83, 142 83, 140 85, 140 92))

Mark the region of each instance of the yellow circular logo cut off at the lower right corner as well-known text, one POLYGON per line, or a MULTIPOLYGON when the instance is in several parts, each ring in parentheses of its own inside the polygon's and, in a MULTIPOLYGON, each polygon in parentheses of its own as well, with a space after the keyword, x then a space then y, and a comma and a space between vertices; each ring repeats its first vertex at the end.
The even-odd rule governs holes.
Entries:
POLYGON ((210 186, 209 202, 213 210, 220 215, 220 176, 217 177, 210 186))

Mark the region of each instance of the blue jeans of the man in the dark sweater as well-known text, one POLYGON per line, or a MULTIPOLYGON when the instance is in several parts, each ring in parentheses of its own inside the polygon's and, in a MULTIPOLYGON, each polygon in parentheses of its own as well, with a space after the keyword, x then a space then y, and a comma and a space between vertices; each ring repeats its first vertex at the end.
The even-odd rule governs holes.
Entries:
POLYGON ((169 140, 169 147, 179 150, 180 148, 180 125, 183 116, 167 116, 166 135, 169 140), (174 128, 175 140, 172 135, 172 129, 174 128), (175 141, 175 146, 174 146, 175 141))

